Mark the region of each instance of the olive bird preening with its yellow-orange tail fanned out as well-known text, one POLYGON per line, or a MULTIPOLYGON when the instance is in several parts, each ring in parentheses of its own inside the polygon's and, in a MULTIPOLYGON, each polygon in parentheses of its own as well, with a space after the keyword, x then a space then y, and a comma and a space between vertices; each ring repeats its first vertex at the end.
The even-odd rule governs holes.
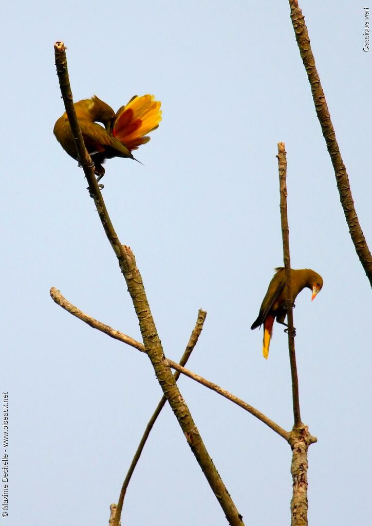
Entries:
MULTIPOLYGON (((79 100, 74 106, 85 146, 95 164, 97 181, 105 175, 102 164, 106 159, 135 159, 132 151, 149 142, 147 134, 158 128, 162 114, 161 103, 153 95, 135 95, 117 113, 96 95, 79 100)), ((78 160, 66 113, 59 117, 53 132, 68 155, 78 160)))

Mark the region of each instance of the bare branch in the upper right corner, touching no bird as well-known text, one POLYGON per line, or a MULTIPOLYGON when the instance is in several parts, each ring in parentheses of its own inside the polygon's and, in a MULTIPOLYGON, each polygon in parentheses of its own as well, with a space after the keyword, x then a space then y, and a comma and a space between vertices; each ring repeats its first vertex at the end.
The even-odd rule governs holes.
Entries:
POLYGON ((323 137, 326 141, 330 160, 332 161, 335 170, 337 189, 341 205, 344 209, 346 222, 349 227, 350 236, 361 265, 363 266, 372 287, 372 255, 369 251, 363 230, 359 225, 358 216, 354 207, 352 190, 350 189, 349 176, 347 175, 346 167, 341 157, 332 120, 330 120, 329 109, 322 88, 321 79, 316 70, 315 58, 311 49, 305 19, 301 9, 298 7, 297 0, 289 0, 289 3, 299 53, 306 69, 316 114, 319 123, 321 124, 323 137))

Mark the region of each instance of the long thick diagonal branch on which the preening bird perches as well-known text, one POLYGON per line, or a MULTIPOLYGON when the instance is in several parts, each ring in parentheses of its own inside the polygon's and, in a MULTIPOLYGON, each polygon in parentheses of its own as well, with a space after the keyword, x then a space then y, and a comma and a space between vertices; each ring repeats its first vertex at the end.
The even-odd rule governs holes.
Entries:
MULTIPOLYGON (((71 130, 73 130, 74 140, 75 137, 79 139, 82 137, 79 130, 79 123, 73 110, 73 96, 71 94, 68 77, 66 48, 63 42, 56 42, 54 49, 57 75, 61 94, 65 103, 67 117, 71 130)), ((89 164, 91 159, 89 159, 87 154, 84 141, 75 140, 75 146, 88 181, 90 195, 94 199, 97 207, 102 227, 104 228, 110 245, 118 258, 120 270, 126 280, 128 292, 139 321, 144 349, 146 350, 152 367, 154 368, 163 394, 166 396, 195 459, 197 459, 205 478, 208 480, 216 499, 224 511, 226 519, 228 519, 233 526, 241 526, 243 524, 242 515, 237 510, 208 451, 205 448, 201 434, 195 425, 190 410, 173 378, 169 363, 164 357, 161 341, 151 314, 142 277, 136 265, 135 256, 129 247, 121 244, 115 229, 112 226, 105 206, 105 201, 95 178, 94 168, 92 167, 92 163, 89 164)))

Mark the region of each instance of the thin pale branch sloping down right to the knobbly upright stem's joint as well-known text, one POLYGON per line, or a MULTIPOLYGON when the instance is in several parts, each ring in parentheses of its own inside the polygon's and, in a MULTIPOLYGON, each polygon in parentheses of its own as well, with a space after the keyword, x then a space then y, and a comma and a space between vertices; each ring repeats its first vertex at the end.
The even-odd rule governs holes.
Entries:
MULTIPOLYGON (((127 343, 127 345, 134 347, 135 349, 138 349, 141 352, 145 352, 143 343, 140 343, 139 341, 134 340, 130 336, 127 336, 123 334, 122 332, 119 332, 118 330, 112 329, 108 325, 105 325, 105 323, 102 323, 96 320, 95 318, 91 318, 90 316, 88 316, 87 314, 79 310, 77 307, 70 304, 70 302, 67 301, 66 298, 64 298, 61 295, 59 290, 55 289, 54 287, 50 289, 50 296, 56 302, 57 305, 64 308, 65 310, 70 312, 73 316, 76 316, 77 318, 84 321, 85 323, 88 323, 90 327, 97 329, 99 331, 105 332, 111 338, 122 341, 123 343, 127 343)), ((208 387, 208 389, 211 389, 212 391, 219 393, 219 395, 223 396, 224 398, 227 398, 228 400, 231 400, 232 402, 236 403, 237 406, 251 413, 254 417, 261 420, 261 422, 266 424, 266 426, 270 427, 278 435, 280 435, 281 437, 283 437, 285 440, 288 441, 290 437, 290 433, 288 433, 288 431, 278 426, 278 424, 276 424, 270 418, 267 418, 263 413, 261 413, 261 411, 255 409, 253 406, 250 406, 250 404, 244 402, 240 398, 237 398, 236 396, 232 395, 229 391, 222 389, 215 383, 212 383, 209 380, 206 380, 205 378, 199 375, 196 375, 194 372, 188 369, 185 369, 184 367, 180 366, 178 363, 174 362, 173 360, 170 360, 169 358, 165 358, 165 359, 172 369, 179 371, 183 375, 188 376, 192 380, 195 380, 196 382, 201 383, 203 386, 208 387)))

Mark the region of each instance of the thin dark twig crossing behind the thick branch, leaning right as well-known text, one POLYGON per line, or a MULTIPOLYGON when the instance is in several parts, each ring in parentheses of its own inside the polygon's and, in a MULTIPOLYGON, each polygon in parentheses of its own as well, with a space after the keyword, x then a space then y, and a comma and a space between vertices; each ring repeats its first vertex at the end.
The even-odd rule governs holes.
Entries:
MULTIPOLYGON (((185 351, 184 351, 184 353, 183 353, 183 355, 182 355, 182 357, 180 359, 180 365, 181 366, 184 366, 187 363, 188 359, 191 356, 191 352, 193 351, 195 345, 197 345, 200 333, 201 333, 201 331, 203 329, 205 317, 206 317, 205 310, 199 309, 197 322, 195 323, 195 327, 192 330, 189 342, 188 342, 188 344, 186 346, 186 349, 185 349, 185 351)), ((174 377, 174 379, 176 381, 180 377, 180 374, 181 373, 179 371, 175 371, 173 373, 173 377, 174 377)), ((121 491, 120 491, 120 495, 119 495, 119 500, 118 500, 118 506, 117 506, 117 510, 116 510, 115 519, 113 519, 113 521, 112 521, 112 526, 118 526, 119 525, 119 521, 120 521, 120 517, 121 517, 121 510, 122 510, 122 507, 123 507, 123 502, 124 502, 124 498, 125 498, 125 495, 126 495, 126 492, 127 492, 128 484, 129 484, 130 479, 132 477, 133 471, 135 470, 135 468, 137 466, 137 463, 138 463, 138 461, 140 459, 142 450, 144 448, 144 444, 146 444, 146 441, 147 441, 147 439, 149 437, 151 429, 152 429, 154 423, 156 422, 156 419, 158 418, 161 410, 163 409, 166 401, 167 401, 166 397, 163 396, 161 398, 160 402, 158 403, 157 408, 153 412, 153 414, 152 414, 152 416, 151 416, 151 418, 150 418, 150 420, 149 420, 149 422, 148 422, 148 424, 146 426, 146 429, 144 430, 143 436, 142 436, 142 438, 140 440, 140 443, 138 444, 138 448, 136 450, 135 456, 133 457, 133 460, 130 463, 130 466, 129 466, 129 469, 128 469, 128 473, 126 475, 126 478, 124 479, 124 482, 123 482, 123 485, 122 485, 122 488, 121 488, 121 491)))

